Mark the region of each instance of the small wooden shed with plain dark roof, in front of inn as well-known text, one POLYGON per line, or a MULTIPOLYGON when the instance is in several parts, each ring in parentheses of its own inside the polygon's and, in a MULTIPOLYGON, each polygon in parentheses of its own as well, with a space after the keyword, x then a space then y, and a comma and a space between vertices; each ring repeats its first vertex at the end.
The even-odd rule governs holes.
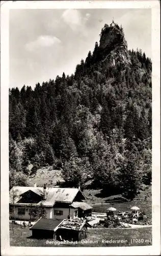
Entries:
POLYGON ((55 228, 61 223, 61 219, 40 218, 31 228, 32 237, 39 239, 53 239, 55 228))

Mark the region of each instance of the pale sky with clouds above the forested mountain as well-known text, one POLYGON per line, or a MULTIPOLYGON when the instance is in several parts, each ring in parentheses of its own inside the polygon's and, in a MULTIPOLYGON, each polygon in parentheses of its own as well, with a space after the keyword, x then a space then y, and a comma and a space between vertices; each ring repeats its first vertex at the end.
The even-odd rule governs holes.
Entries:
POLYGON ((151 58, 151 9, 14 9, 9 17, 10 88, 74 74, 104 24, 122 25, 128 49, 151 58))

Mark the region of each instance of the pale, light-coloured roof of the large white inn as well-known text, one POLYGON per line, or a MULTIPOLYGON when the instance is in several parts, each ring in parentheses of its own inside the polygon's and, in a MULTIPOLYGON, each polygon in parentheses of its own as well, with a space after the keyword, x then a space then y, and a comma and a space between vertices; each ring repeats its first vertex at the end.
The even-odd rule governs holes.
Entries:
MULTIPOLYGON (((43 187, 21 187, 14 186, 10 190, 10 203, 13 203, 12 200, 12 191, 15 191, 16 197, 14 198, 14 203, 18 204, 18 201, 21 199, 22 194, 25 192, 32 190, 37 195, 43 195, 43 187)), ((44 206, 52 207, 55 202, 64 202, 64 203, 72 203, 78 191, 82 193, 78 188, 59 188, 59 187, 46 187, 46 200, 42 200, 37 205, 41 203, 44 206)), ((82 194, 83 198, 85 196, 82 194)), ((22 205, 22 203, 20 203, 22 205)))

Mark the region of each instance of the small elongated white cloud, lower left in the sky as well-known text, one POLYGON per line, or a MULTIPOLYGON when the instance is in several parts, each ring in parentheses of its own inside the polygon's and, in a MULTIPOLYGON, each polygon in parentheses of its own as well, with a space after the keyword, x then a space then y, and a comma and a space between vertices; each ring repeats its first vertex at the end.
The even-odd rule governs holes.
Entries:
POLYGON ((41 35, 35 41, 28 42, 25 45, 26 50, 33 51, 40 47, 50 47, 52 45, 58 45, 61 40, 56 36, 41 35))

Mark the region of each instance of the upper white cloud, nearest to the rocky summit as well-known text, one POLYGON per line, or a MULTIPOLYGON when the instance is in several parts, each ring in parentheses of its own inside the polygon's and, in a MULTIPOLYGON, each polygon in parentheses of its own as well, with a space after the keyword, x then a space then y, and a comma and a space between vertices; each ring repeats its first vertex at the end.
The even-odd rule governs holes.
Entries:
POLYGON ((62 19, 73 31, 83 32, 85 35, 84 29, 89 17, 89 13, 83 17, 80 11, 73 9, 67 9, 62 14, 62 19))

